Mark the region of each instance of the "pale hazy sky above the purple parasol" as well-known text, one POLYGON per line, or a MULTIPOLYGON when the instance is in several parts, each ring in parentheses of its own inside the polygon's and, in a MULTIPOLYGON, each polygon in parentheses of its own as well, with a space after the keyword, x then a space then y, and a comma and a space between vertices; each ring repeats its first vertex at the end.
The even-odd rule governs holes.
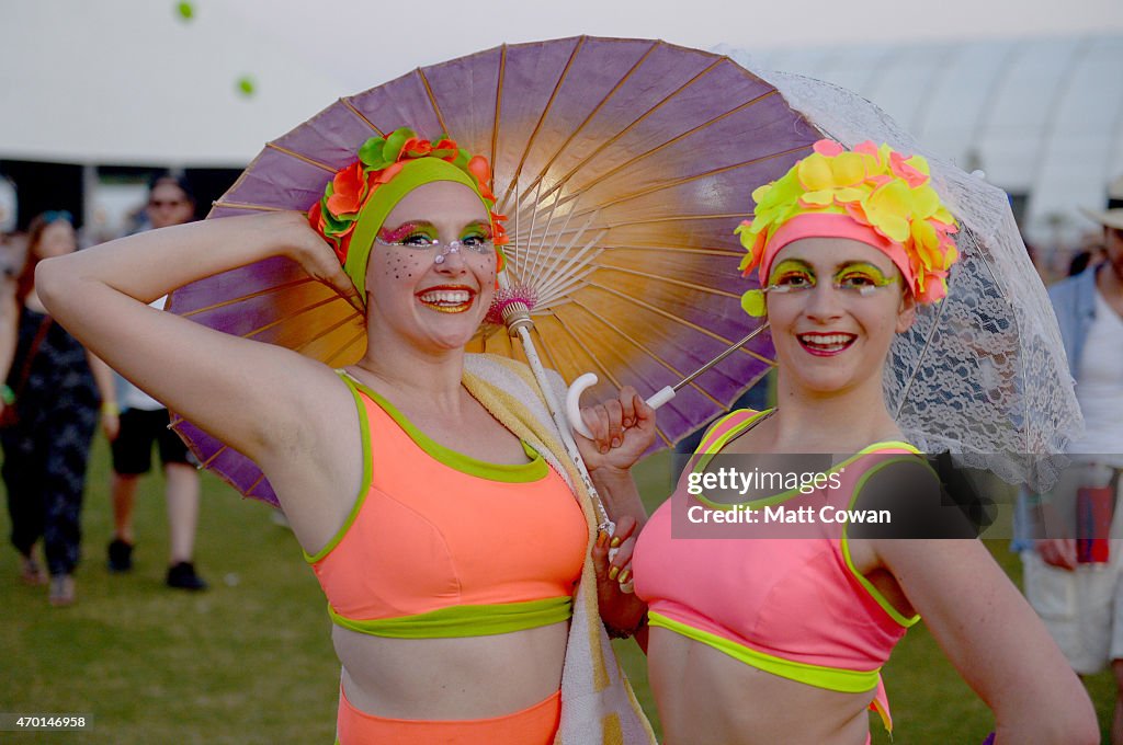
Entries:
MULTIPOLYGON (((207 0, 195 6, 208 11, 207 0)), ((503 43, 582 34, 772 49, 1123 31, 1123 0, 239 0, 234 7, 356 91, 503 43), (472 12, 463 15, 465 8, 472 12), (331 49, 318 48, 317 39, 330 39, 331 49)))

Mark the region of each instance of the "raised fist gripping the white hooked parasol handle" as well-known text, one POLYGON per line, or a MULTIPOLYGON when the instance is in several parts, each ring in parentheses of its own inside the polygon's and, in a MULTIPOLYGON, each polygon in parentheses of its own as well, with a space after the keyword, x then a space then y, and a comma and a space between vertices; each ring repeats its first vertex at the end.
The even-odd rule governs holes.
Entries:
POLYGON ((581 410, 588 440, 575 434, 590 473, 597 469, 627 471, 655 442, 655 410, 631 386, 617 398, 581 410))

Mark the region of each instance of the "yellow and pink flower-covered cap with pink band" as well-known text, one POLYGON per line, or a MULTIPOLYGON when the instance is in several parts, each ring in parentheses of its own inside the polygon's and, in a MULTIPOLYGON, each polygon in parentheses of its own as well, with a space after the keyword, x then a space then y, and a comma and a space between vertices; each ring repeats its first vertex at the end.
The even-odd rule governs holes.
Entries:
MULTIPOLYGON (((846 150, 819 140, 814 153, 777 181, 752 192, 752 219, 737 228, 748 256, 741 272, 767 283, 773 259, 802 238, 850 238, 885 252, 917 303, 939 302, 959 254, 956 219, 930 185, 928 160, 871 141, 846 150)), ((764 315, 764 294, 745 293, 741 306, 764 315)))

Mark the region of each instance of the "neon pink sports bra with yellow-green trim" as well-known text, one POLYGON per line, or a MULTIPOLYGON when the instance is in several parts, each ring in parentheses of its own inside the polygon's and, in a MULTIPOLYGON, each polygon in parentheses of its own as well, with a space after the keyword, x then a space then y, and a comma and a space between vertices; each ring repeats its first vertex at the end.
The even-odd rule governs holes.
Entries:
MULTIPOLYGON (((710 430, 697 453, 720 452, 761 416, 733 412, 710 430)), ((867 457, 887 453, 917 451, 903 442, 876 443, 832 469, 839 488, 792 490, 758 503, 847 509, 871 467, 886 461, 867 457)), ((694 469, 707 460, 699 459, 694 469)), ((805 528, 815 532, 809 537, 673 537, 673 514, 691 504, 700 503, 686 494, 684 479, 637 542, 636 594, 650 607, 650 624, 810 686, 851 693, 877 689, 873 708, 889 727, 880 668, 919 616, 902 616, 853 569, 844 527, 819 523, 805 528)))

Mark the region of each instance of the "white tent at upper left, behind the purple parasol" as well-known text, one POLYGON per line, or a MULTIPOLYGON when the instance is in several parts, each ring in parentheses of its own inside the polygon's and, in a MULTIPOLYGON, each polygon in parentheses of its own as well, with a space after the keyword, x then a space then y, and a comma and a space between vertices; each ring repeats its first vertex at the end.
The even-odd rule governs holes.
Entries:
POLYGON ((4 0, 0 158, 241 167, 354 92, 228 3, 194 6, 185 19, 168 0, 4 0))

